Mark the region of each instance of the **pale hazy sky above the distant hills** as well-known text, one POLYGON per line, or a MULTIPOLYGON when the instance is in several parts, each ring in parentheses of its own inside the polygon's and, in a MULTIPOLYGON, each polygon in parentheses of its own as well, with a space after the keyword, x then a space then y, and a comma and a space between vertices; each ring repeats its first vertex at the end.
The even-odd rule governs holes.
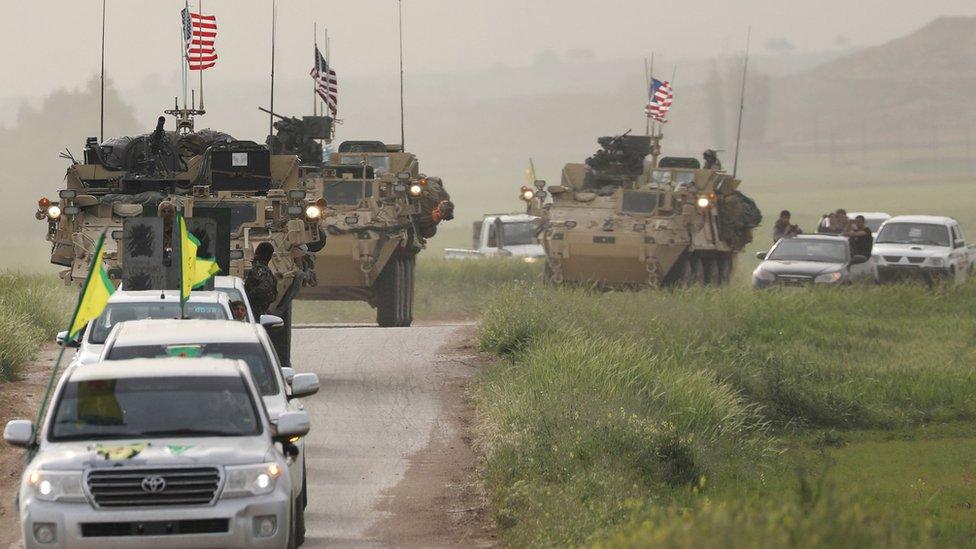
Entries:
MULTIPOLYGON (((12 3, 12 0, 5 0, 12 3)), ((76 87, 98 71, 100 0, 31 0, 0 20, 0 95, 76 87)), ((177 0, 107 0, 107 68, 127 89, 179 85, 177 0)), ((191 2, 196 5, 197 2, 191 2)), ((974 15, 973 0, 403 0, 411 73, 529 65, 546 50, 597 58, 670 58, 740 50, 746 28, 764 49, 771 40, 798 51, 898 37, 940 15, 974 15), (840 39, 840 42, 838 42, 840 39)), ((341 75, 396 72, 394 0, 279 0, 277 72, 306 75, 312 24, 329 27, 341 75)), ((220 25, 213 86, 266 76, 271 0, 205 0, 220 25)), ((490 74, 486 73, 486 78, 490 74)), ((4 117, 6 118, 6 117, 4 117)))

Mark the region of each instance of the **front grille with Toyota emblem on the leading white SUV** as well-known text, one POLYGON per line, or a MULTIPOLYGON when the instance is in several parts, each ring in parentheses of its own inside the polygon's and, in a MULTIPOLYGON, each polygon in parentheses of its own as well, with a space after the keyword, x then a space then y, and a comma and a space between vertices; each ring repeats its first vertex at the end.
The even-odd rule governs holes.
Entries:
POLYGON ((208 505, 220 487, 216 467, 180 469, 96 469, 87 477, 98 507, 208 505))

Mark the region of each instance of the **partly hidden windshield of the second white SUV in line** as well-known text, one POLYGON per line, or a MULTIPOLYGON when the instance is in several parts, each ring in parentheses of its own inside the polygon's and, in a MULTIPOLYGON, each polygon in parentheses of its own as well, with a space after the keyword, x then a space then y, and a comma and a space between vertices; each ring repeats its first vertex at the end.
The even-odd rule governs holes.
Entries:
POLYGON ((109 349, 107 360, 127 360, 130 358, 232 358, 243 360, 251 370, 251 378, 262 395, 278 394, 278 379, 274 375, 274 364, 260 343, 205 343, 192 345, 115 345, 109 349))

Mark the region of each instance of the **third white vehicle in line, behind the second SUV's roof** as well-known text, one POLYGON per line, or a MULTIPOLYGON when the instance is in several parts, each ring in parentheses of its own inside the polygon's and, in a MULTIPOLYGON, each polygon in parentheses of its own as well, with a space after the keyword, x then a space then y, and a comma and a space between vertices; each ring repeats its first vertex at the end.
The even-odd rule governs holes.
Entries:
POLYGON ((119 290, 109 297, 102 314, 88 323, 81 338, 65 341, 68 332, 59 332, 59 345, 76 347, 71 364, 92 364, 102 356, 105 340, 119 322, 144 318, 202 318, 230 320, 230 301, 218 292, 192 292, 186 304, 180 305, 179 290, 119 290))

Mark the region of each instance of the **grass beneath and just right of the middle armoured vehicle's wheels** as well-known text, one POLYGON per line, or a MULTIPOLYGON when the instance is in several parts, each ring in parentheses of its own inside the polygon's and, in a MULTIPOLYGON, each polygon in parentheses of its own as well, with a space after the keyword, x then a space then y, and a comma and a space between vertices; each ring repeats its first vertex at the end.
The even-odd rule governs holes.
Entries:
MULTIPOLYGON (((495 288, 512 281, 542 279, 542 263, 497 258, 446 261, 421 254, 417 258, 414 319, 467 320, 477 318, 495 288)), ((295 321, 374 322, 376 311, 366 303, 299 301, 295 321)))

